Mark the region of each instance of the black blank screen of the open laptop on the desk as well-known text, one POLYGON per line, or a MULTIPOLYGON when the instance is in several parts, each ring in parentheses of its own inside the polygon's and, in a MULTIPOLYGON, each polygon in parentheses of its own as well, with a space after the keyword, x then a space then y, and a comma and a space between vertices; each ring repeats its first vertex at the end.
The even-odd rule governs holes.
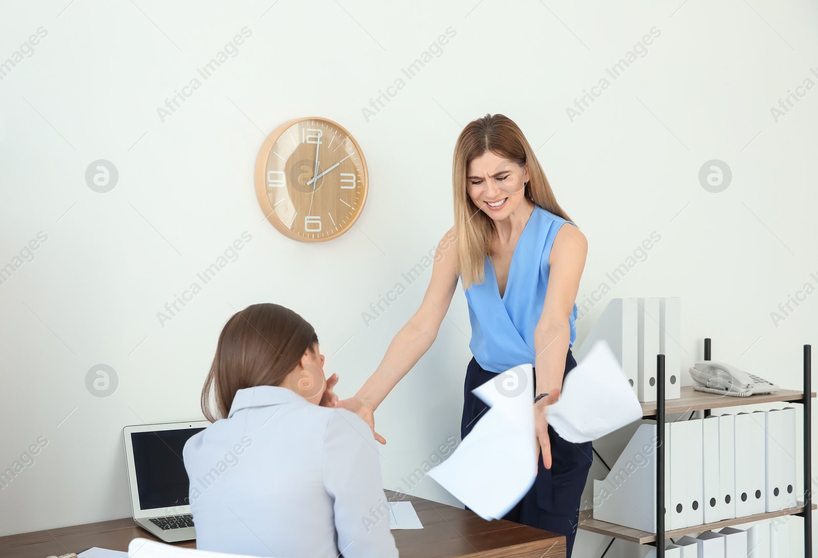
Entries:
POLYGON ((182 448, 187 439, 204 428, 132 432, 133 468, 137 476, 139 507, 186 506, 190 481, 187 479, 182 448))

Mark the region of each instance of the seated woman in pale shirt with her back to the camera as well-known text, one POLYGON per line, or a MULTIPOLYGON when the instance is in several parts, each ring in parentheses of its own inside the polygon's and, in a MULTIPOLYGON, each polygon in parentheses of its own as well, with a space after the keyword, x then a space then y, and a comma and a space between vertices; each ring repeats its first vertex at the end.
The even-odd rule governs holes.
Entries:
POLYGON ((183 452, 196 547, 398 556, 372 430, 319 405, 335 398, 323 365, 312 326, 288 308, 254 304, 227 321, 201 395, 213 425, 183 452))

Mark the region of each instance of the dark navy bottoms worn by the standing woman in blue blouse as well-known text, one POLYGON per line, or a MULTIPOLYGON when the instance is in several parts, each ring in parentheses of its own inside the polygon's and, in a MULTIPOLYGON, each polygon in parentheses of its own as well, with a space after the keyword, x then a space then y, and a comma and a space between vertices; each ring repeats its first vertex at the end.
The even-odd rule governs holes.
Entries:
MULTIPOLYGON (((569 349, 565 357, 565 376, 576 366, 577 361, 569 349)), ((472 389, 496 376, 496 372, 483 370, 474 358, 469 362, 465 373, 461 439, 471 432, 488 409, 482 399, 471 393, 472 389)), ((536 376, 534 382, 533 391, 536 394, 536 376)), ((566 556, 570 558, 573 541, 577 536, 582 490, 593 461, 591 442, 573 443, 564 440, 551 425, 548 426, 548 436, 551 439, 551 469, 546 469, 543 465, 541 455, 533 486, 503 519, 564 535, 566 556)))

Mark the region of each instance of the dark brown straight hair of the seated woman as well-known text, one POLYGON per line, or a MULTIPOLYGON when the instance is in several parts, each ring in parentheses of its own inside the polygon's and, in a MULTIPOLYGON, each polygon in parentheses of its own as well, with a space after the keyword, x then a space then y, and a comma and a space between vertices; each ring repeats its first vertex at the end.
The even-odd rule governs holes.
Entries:
POLYGON ((317 343, 312 326, 279 304, 252 304, 233 314, 218 335, 216 356, 202 388, 205 418, 213 422, 227 417, 239 389, 280 385, 317 343))

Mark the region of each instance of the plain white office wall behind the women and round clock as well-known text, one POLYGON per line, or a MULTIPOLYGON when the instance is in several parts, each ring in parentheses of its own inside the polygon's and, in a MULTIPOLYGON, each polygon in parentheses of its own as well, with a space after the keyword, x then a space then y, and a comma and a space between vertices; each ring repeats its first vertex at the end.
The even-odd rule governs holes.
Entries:
MULTIPOLYGON (((816 16, 805 0, 4 5, 0 61, 47 34, 0 80, 0 265, 38 232, 47 241, 0 285, 0 468, 41 436, 47 445, 0 491, 0 534, 128 515, 122 427, 200 417, 218 332, 248 304, 303 315, 338 392, 353 394, 430 272, 368 327, 362 312, 452 225, 452 148, 487 112, 523 128, 588 237, 578 302, 611 287, 587 306, 578 341, 613 297, 680 295, 685 369, 710 336, 713 358, 798 388, 802 344, 818 341, 818 295, 783 322, 771 312, 818 286, 818 91, 798 90, 786 114, 771 107, 818 83, 816 16), (157 107, 245 27, 237 56, 163 122, 157 107), (450 27, 442 55, 406 79, 402 68, 450 27), (650 29, 661 34, 613 79, 606 69, 650 29), (365 118, 402 76, 405 88, 365 118), (602 78, 609 88, 569 117, 602 78), (357 227, 314 245, 263 221, 253 185, 263 135, 308 115, 349 128, 371 176, 357 227), (107 193, 84 178, 101 159, 119 173, 107 193), (732 171, 721 193, 699 183, 714 159, 732 171), (164 304, 245 231, 239 258, 160 325, 164 304), (613 285, 605 273, 651 232, 661 241, 613 285), (98 363, 119 378, 107 398, 86 389, 98 363)), ((377 414, 386 488, 459 433, 470 359, 460 291, 447 318, 377 414)), ((603 444, 606 459, 623 444, 603 444)), ((430 479, 409 492, 454 503, 430 479)), ((578 548, 596 556, 607 543, 581 533, 578 548)), ((609 556, 641 551, 616 542, 609 556)))

